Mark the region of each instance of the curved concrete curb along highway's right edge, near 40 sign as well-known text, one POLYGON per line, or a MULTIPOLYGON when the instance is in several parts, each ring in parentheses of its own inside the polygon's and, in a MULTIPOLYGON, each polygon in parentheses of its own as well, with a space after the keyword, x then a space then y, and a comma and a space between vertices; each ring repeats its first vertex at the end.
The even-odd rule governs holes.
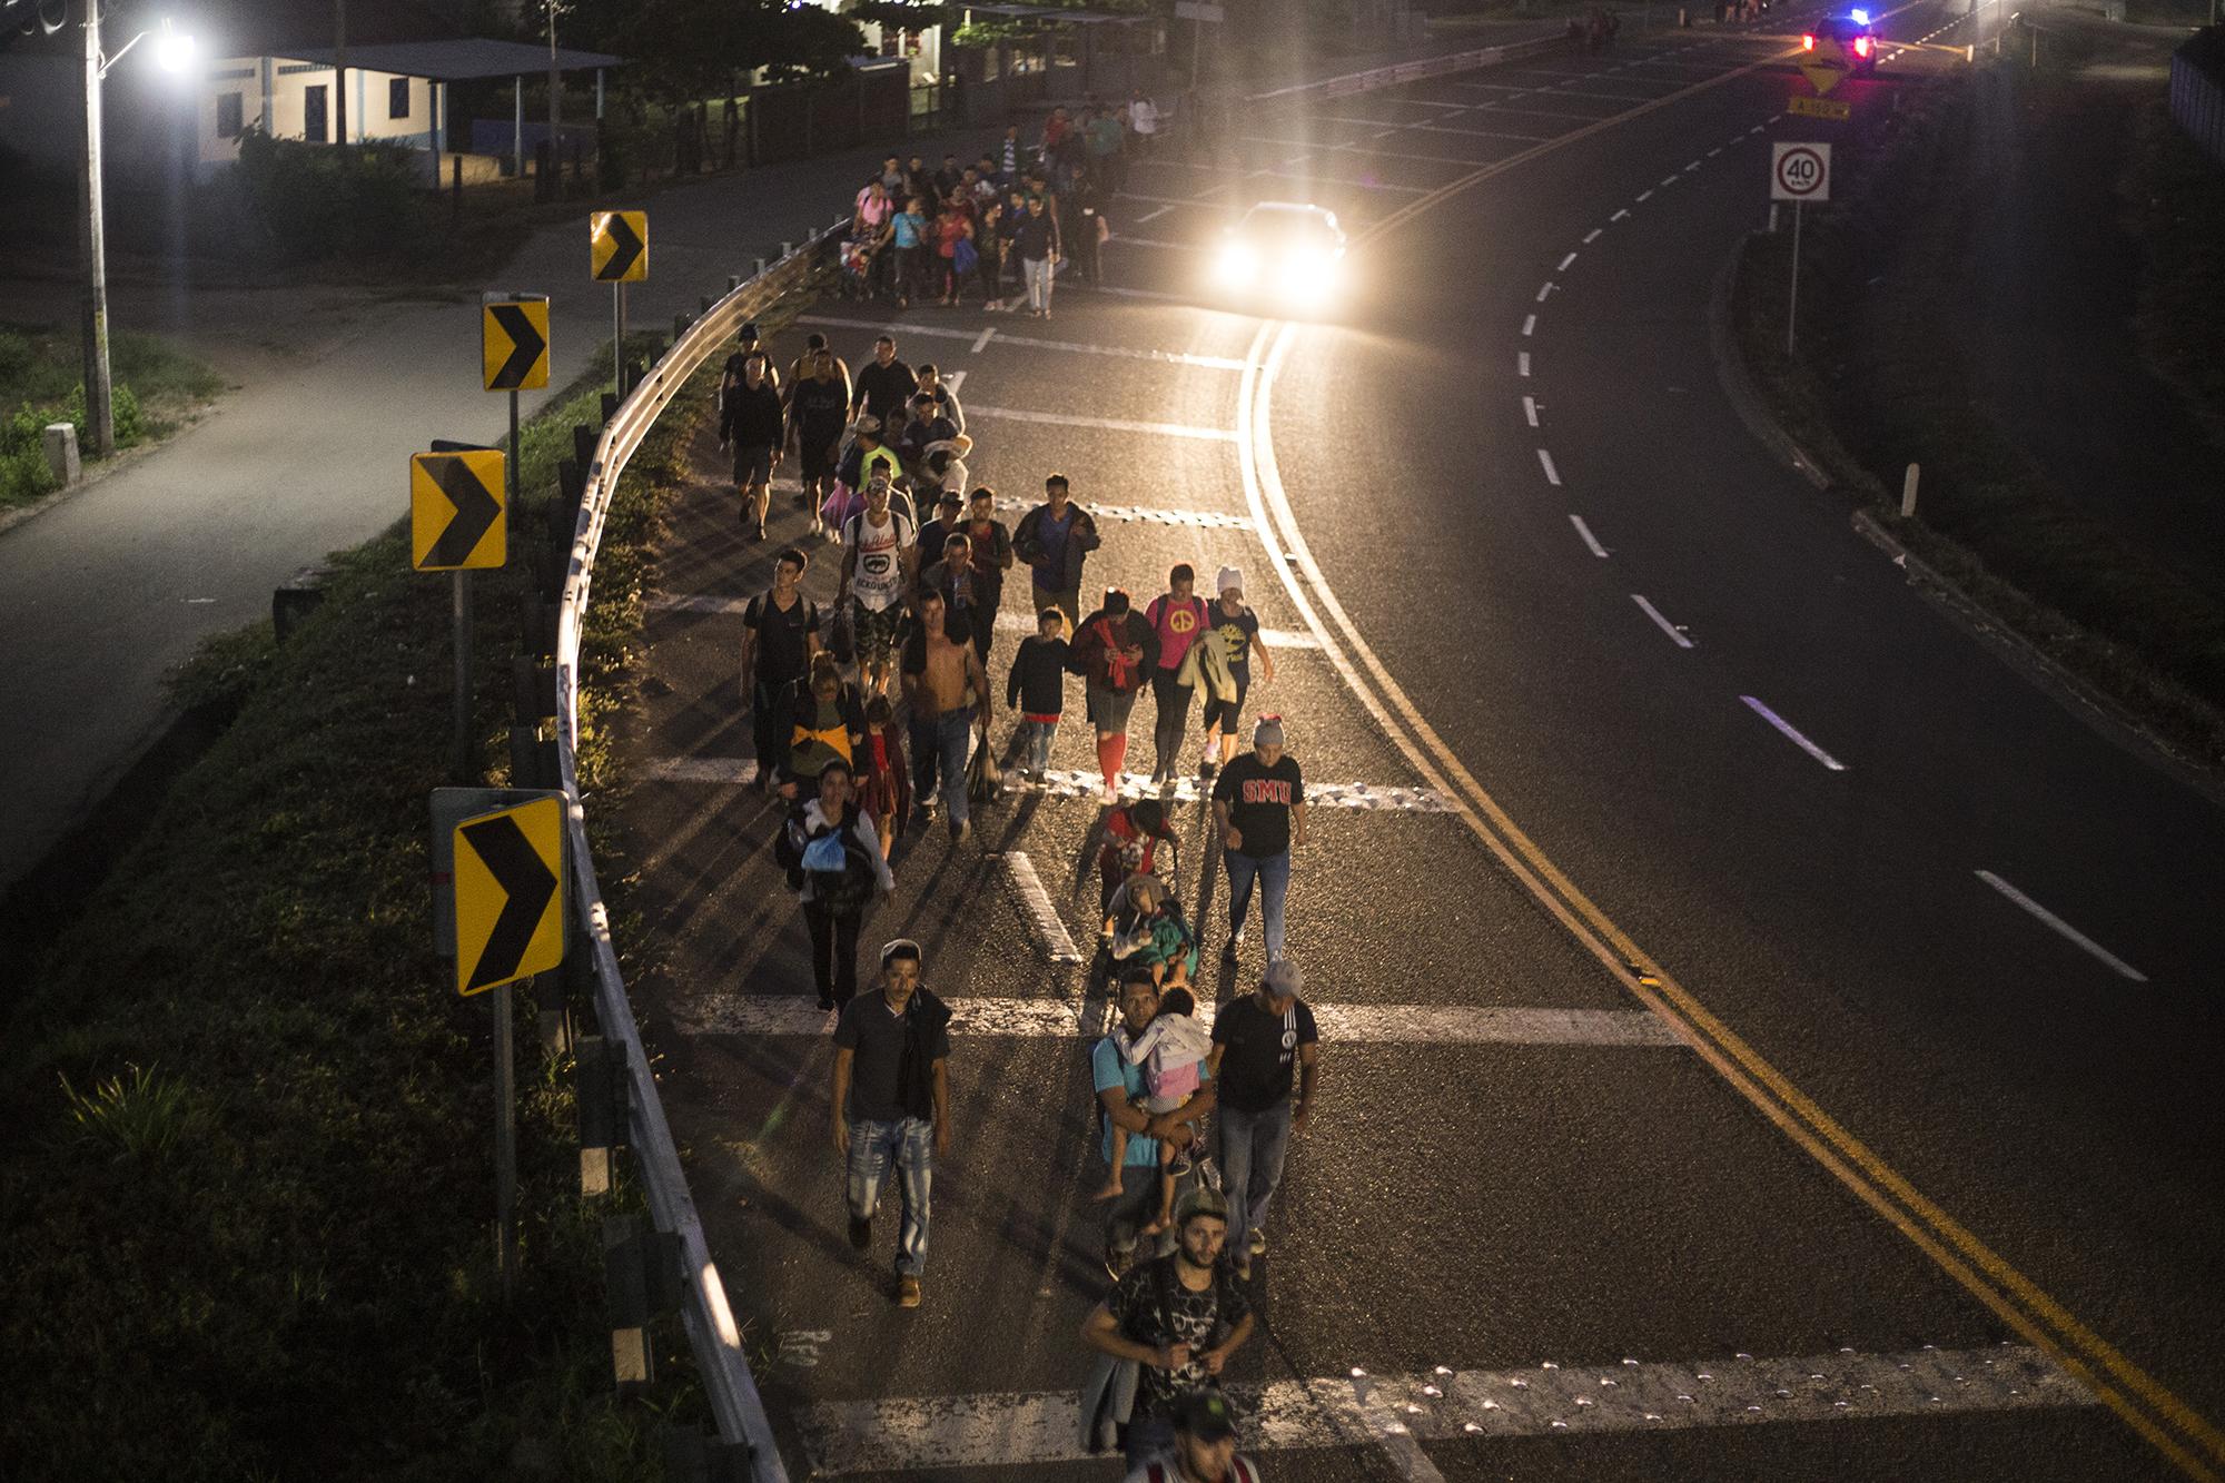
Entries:
MULTIPOLYGON (((1744 356, 1738 352, 1738 341, 1731 336, 1731 281, 1738 274, 1738 263, 1747 243, 1756 236, 1760 234, 1749 232, 1738 240, 1731 256, 1715 272, 1715 285, 1709 292, 1707 338, 1715 361, 1715 381, 1722 385, 1724 396, 1729 396, 1731 407, 1738 412, 1738 421, 1742 421, 1756 439, 1798 470, 1811 485, 1829 490, 1833 488, 1831 477, 1822 472, 1822 465, 1811 459, 1793 434, 1787 432, 1769 412, 1753 385, 1753 374, 1747 370, 1744 356)), ((2129 708, 2063 668, 2063 664, 2056 661, 2045 648, 2011 628, 1991 608, 1971 597, 1958 581, 1902 546, 1900 539, 1887 530, 1878 512, 1858 505, 1849 517, 1849 526, 1865 541, 1891 557, 1893 566, 1898 566, 1907 577, 1909 586, 1916 588, 1925 601, 1938 608, 1956 628, 2002 659, 2011 670, 2025 677, 2051 701, 2069 710, 2089 730, 2132 753, 2174 782, 2185 784, 2212 804, 2225 806, 2225 768, 2185 757, 2149 730, 2147 724, 2140 721, 2140 717, 2129 708)))

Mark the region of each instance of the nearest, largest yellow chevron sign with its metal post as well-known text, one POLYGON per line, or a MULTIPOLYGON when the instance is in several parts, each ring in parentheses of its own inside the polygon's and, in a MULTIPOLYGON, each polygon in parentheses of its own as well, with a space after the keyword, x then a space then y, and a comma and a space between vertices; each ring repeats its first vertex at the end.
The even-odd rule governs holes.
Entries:
MULTIPOLYGON (((436 797, 438 806, 438 797, 436 797)), ((463 819, 449 835, 456 993, 494 993, 494 1225, 503 1298, 516 1285, 518 1124, 512 984, 563 964, 563 793, 463 819)))

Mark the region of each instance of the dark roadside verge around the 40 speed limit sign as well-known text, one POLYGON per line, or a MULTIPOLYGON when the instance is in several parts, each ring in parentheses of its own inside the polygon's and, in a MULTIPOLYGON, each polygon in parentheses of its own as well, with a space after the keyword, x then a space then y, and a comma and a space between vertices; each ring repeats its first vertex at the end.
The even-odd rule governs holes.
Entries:
POLYGON ((1976 232, 1962 176, 1980 76, 1905 80, 1840 149, 1838 196, 1804 220, 1784 352, 1789 234, 1753 236, 1733 338, 1767 412, 1856 505, 2023 639, 2198 766, 2225 764, 2225 606, 2063 497, 1980 407, 1954 336, 1976 232), (1880 278, 1882 274, 1882 278, 1880 278), (1918 517, 1900 474, 1922 465, 1918 517))

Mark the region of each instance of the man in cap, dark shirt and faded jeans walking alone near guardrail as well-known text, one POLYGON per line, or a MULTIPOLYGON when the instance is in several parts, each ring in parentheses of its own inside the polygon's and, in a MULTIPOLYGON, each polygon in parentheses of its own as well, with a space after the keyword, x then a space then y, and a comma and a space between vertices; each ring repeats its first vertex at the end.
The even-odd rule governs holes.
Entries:
POLYGON ((919 986, 910 937, 881 949, 881 991, 850 1000, 834 1027, 834 1151, 848 1167, 857 1251, 872 1245, 874 1207, 894 1167, 903 1202, 897 1307, 919 1307, 934 1160, 950 1156, 950 1006, 919 986))

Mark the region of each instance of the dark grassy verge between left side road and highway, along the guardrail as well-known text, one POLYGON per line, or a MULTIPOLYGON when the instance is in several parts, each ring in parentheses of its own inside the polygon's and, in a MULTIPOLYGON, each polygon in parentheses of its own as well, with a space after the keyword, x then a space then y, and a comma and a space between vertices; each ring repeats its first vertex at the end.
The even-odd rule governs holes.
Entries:
MULTIPOLYGON (((476 581, 492 782, 518 552, 605 374, 527 425, 512 566, 476 581)), ((583 644, 596 822, 659 501, 703 410, 690 387, 612 503, 583 644)), ((599 1222, 639 1200, 581 1205, 570 1058, 530 1031, 523 1267, 501 1298, 490 1011, 454 995, 429 940, 447 583, 409 570, 403 528, 332 568, 285 646, 260 626, 187 666, 180 699, 236 719, 11 980, 0 1476, 654 1479, 647 1423, 694 1410, 676 1332, 681 1363, 641 1405, 612 1394, 599 1222)), ((625 940, 627 871, 605 848, 625 940)), ((518 1011, 534 1024, 530 998, 518 1011)))

